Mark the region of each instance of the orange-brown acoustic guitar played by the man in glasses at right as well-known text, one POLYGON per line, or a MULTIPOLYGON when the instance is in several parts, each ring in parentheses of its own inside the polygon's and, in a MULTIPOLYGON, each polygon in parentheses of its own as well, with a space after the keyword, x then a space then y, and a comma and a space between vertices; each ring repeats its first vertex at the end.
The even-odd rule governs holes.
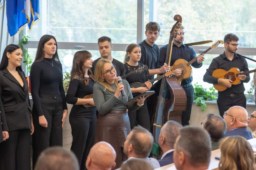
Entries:
MULTIPOLYGON (((240 72, 240 70, 238 68, 231 68, 228 71, 224 70, 224 69, 216 69, 212 72, 212 76, 216 77, 216 78, 222 78, 222 79, 229 79, 232 80, 233 82, 231 83, 232 85, 238 85, 239 83, 242 82, 242 80, 240 80, 238 78, 238 75, 247 75, 250 73, 256 72, 255 70, 249 70, 249 71, 245 71, 245 72, 240 72)), ((214 88, 220 92, 226 90, 228 87, 222 85, 222 84, 214 84, 213 85, 214 88)))

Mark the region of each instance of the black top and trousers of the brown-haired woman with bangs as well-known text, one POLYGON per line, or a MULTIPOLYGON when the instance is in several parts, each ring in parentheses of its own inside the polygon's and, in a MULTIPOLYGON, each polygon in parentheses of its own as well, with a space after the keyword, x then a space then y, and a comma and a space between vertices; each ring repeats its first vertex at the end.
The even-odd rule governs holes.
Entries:
POLYGON ((69 114, 69 123, 71 125, 73 151, 78 159, 81 170, 85 169, 85 161, 90 149, 95 143, 96 136, 96 108, 86 108, 83 105, 75 105, 77 98, 83 99, 84 96, 93 94, 93 85, 95 84, 90 78, 89 83, 85 86, 84 81, 74 78, 70 81, 67 93, 67 103, 73 104, 69 114))

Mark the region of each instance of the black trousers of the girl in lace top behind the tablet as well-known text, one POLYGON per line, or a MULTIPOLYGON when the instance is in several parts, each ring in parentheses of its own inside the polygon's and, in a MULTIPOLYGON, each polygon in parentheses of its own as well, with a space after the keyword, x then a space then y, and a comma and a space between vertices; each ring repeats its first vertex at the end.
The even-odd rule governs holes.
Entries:
POLYGON ((144 102, 144 105, 142 107, 134 112, 128 110, 128 116, 130 119, 131 129, 133 129, 137 125, 140 125, 150 131, 150 118, 148 113, 147 101, 144 102))

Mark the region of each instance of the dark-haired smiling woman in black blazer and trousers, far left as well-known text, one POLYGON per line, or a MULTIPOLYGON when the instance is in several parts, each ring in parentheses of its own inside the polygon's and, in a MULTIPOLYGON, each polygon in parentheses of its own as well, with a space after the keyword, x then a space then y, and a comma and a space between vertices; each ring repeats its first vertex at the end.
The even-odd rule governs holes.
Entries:
POLYGON ((0 144, 0 169, 31 168, 30 135, 34 126, 21 61, 22 50, 19 46, 10 44, 4 49, 0 63, 0 97, 4 108, 1 115, 6 118, 9 139, 0 144))

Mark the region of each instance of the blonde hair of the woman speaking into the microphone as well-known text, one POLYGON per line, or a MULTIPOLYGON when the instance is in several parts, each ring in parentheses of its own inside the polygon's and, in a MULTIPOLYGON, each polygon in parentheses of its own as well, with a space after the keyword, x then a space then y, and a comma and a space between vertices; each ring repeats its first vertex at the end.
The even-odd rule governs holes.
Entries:
MULTIPOLYGON (((104 91, 108 89, 110 92, 115 92, 115 89, 113 89, 107 81, 103 81, 104 79, 103 67, 106 63, 112 64, 111 61, 108 59, 100 59, 97 62, 95 66, 94 76, 96 81, 105 87, 104 91)), ((115 85, 117 87, 118 85, 117 80, 115 80, 115 85)))

